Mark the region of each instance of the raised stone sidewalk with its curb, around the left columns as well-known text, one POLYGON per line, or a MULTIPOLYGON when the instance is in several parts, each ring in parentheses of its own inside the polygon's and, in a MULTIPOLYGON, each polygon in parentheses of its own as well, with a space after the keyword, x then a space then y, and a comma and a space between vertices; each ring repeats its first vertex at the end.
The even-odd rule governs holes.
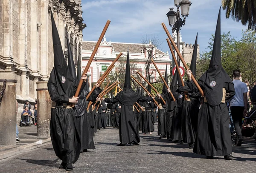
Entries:
POLYGON ((20 141, 16 145, 0 145, 0 160, 5 159, 15 154, 22 153, 24 150, 32 150, 39 146, 46 145, 51 142, 49 137, 38 137, 37 136, 37 126, 32 125, 31 127, 20 127, 19 139, 20 141), (35 142, 42 140, 42 145, 36 144, 35 142))

